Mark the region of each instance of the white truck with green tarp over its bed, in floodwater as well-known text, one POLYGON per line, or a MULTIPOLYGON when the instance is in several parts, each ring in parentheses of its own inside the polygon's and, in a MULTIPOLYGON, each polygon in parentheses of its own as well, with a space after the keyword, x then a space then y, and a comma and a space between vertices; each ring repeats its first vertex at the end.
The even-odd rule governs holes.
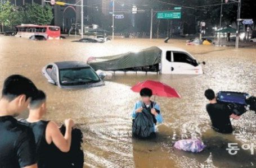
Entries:
MULTIPOLYGON (((137 52, 90 57, 87 63, 97 70, 116 72, 154 72, 163 74, 203 74, 203 68, 186 50, 172 46, 152 46, 137 52)), ((205 62, 202 62, 205 64, 205 62)))

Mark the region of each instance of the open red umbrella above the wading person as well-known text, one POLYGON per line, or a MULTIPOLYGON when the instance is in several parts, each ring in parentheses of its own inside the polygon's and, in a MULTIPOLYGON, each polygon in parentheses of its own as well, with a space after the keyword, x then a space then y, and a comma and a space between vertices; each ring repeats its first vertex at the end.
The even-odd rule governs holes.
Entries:
POLYGON ((140 92, 141 89, 145 87, 150 88, 153 92, 153 95, 156 96, 181 98, 181 96, 179 96, 178 92, 174 88, 158 81, 147 80, 144 82, 138 82, 131 88, 131 90, 134 92, 140 92))

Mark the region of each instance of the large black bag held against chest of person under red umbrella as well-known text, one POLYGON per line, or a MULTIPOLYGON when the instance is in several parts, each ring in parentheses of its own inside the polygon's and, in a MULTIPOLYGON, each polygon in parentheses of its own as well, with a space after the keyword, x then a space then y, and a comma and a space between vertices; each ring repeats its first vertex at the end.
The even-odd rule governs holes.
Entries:
MULTIPOLYGON (((152 106, 152 103, 151 103, 152 106)), ((151 107, 142 106, 142 113, 137 113, 132 123, 132 134, 137 138, 150 138, 155 136, 154 116, 151 114, 151 107)))

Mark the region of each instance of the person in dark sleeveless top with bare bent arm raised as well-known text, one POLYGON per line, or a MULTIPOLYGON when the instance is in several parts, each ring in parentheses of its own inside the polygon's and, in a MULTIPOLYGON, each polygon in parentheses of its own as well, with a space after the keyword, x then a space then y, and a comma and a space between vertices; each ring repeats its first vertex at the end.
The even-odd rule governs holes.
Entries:
MULTIPOLYGON (((65 120, 65 136, 62 136, 58 125, 53 121, 43 120, 46 114, 46 95, 43 91, 38 90, 37 94, 32 97, 29 104, 28 119, 21 119, 25 125, 33 130, 37 149, 37 160, 39 168, 51 168, 55 162, 55 156, 52 155, 53 144, 62 152, 68 152, 71 146, 71 130, 74 125, 73 120, 65 120)), ((60 163, 56 163, 60 165, 60 163)))

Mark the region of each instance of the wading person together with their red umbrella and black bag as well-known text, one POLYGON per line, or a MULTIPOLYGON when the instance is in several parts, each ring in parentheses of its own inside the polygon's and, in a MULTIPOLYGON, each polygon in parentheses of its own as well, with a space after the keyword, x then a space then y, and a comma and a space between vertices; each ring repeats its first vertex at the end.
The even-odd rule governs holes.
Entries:
POLYGON ((140 92, 141 101, 137 101, 132 111, 132 134, 138 138, 155 137, 156 123, 162 123, 163 117, 160 113, 160 106, 156 102, 151 101, 151 96, 161 97, 177 97, 180 98, 178 92, 159 81, 146 80, 138 82, 131 87, 134 92, 140 92))

